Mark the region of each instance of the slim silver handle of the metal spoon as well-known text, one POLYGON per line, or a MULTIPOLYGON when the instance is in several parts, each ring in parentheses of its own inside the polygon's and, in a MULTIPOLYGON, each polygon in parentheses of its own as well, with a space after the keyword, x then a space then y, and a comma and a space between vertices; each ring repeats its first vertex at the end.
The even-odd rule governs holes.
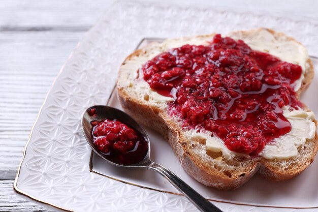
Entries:
POLYGON ((182 192, 185 197, 187 197, 200 211, 203 212, 222 212, 215 205, 201 196, 198 192, 196 192, 193 188, 189 187, 182 179, 172 173, 166 167, 157 164, 150 163, 148 168, 156 170, 165 178, 167 178, 172 185, 174 185, 180 192, 182 192))

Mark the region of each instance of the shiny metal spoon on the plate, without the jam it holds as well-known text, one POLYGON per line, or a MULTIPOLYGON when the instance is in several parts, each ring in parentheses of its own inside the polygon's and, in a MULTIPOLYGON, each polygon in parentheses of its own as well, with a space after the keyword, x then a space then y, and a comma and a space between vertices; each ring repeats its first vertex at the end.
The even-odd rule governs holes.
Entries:
POLYGON ((109 106, 93 106, 94 109, 96 109, 96 114, 91 115, 90 109, 88 108, 82 118, 82 129, 84 132, 84 136, 91 146, 91 148, 94 150, 94 152, 105 159, 107 162, 119 166, 119 167, 128 167, 128 168, 149 168, 153 169, 157 172, 159 172, 161 175, 163 175, 165 178, 167 178, 172 185, 174 185, 180 192, 182 192, 185 197, 187 197, 199 210, 201 211, 210 211, 210 212, 221 212, 220 209, 218 209, 215 205, 213 205, 211 202, 206 200, 203 196, 201 196, 198 192, 196 192, 194 189, 189 187, 186 183, 184 183, 183 180, 181 180, 179 177, 177 177, 174 173, 172 173, 169 169, 166 167, 154 163, 150 160, 150 142, 149 138, 145 132, 145 130, 128 114, 124 113, 121 110, 118 110, 113 107, 109 106), (92 137, 92 126, 91 122, 94 120, 102 121, 108 119, 117 119, 120 122, 132 127, 133 129, 139 131, 144 137, 145 140, 148 142, 148 152, 143 160, 141 160, 139 163, 131 164, 131 165, 123 165, 114 163, 110 160, 108 160, 105 157, 105 154, 101 153, 100 150, 94 145, 93 143, 93 137, 92 137))

